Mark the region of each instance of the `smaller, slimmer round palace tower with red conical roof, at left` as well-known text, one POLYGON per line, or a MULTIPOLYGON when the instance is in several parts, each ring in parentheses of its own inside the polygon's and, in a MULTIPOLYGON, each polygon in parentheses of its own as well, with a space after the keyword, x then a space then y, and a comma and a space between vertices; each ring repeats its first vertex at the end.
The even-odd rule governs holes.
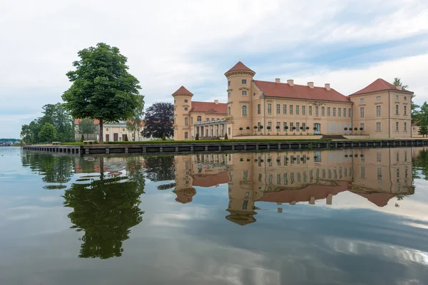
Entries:
POLYGON ((174 98, 174 140, 190 140, 190 109, 192 108, 192 96, 184 86, 173 93, 174 98))

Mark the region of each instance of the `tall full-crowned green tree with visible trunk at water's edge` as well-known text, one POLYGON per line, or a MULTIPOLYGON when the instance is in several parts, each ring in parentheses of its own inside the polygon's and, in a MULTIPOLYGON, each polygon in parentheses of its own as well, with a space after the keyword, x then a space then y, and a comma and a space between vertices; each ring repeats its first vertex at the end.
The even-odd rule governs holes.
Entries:
POLYGON ((128 73, 119 49, 106 43, 84 48, 74 61, 75 71, 67 73, 73 84, 63 93, 66 108, 74 118, 98 119, 100 142, 103 143, 103 122, 128 120, 138 106, 137 78, 128 73))

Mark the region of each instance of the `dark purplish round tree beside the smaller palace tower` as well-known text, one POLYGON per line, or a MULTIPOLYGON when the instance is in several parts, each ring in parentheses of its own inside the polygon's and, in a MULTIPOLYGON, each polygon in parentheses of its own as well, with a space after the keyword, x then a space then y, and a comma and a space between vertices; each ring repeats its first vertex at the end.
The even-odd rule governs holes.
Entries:
POLYGON ((174 134, 174 105, 154 103, 146 110, 144 120, 143 136, 145 138, 162 138, 163 134, 172 137, 174 134))

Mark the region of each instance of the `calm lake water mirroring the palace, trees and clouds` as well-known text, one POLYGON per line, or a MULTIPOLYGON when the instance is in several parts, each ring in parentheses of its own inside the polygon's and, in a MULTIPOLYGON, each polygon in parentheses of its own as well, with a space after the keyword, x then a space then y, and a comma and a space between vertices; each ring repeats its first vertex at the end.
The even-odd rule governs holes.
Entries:
POLYGON ((427 147, 0 155, 0 284, 428 284, 427 147))

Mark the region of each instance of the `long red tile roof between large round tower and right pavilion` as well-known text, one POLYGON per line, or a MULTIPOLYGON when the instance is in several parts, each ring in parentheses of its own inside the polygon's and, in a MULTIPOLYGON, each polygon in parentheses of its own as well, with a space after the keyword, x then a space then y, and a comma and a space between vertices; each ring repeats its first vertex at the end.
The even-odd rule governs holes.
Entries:
POLYGON ((331 88, 330 90, 327 90, 324 87, 310 88, 309 86, 296 84, 294 86, 290 86, 287 83, 276 83, 270 81, 253 82, 255 83, 255 86, 262 90, 267 97, 350 102, 350 99, 347 98, 347 96, 331 88))

